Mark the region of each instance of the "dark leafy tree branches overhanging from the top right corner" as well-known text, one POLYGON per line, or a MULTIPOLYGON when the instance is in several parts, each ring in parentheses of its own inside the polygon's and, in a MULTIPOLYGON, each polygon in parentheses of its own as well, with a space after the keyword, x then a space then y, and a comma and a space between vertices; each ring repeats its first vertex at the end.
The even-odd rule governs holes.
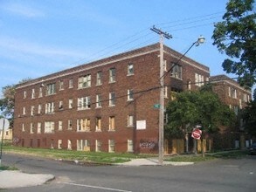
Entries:
POLYGON ((215 24, 213 45, 229 57, 223 62, 225 72, 239 76, 242 86, 256 82, 256 14, 254 0, 230 0, 223 21, 215 24))

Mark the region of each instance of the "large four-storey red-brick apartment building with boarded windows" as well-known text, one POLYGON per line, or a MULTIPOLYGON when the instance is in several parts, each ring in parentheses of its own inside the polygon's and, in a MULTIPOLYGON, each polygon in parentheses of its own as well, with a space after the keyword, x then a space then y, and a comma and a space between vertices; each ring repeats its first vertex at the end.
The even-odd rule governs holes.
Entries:
MULTIPOLYGON (((159 54, 159 44, 149 45, 18 85, 17 145, 157 153, 159 54)), ((163 54, 165 72, 182 57, 167 46, 163 54)), ((164 78, 166 103, 209 77, 207 66, 184 57, 164 78)))

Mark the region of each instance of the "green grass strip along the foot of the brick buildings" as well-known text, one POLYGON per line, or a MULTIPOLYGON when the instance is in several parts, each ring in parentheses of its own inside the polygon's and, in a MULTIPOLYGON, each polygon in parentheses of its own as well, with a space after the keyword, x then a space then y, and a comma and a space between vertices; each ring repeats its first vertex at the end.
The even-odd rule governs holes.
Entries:
MULTIPOLYGON (((94 164, 112 164, 130 161, 136 158, 157 157, 157 154, 117 154, 104 152, 85 152, 65 149, 43 149, 43 148, 26 148, 15 147, 10 143, 4 143, 3 152, 12 154, 25 154, 38 157, 62 160, 62 161, 80 161, 81 163, 94 164)), ((165 161, 185 161, 199 162, 211 161, 214 159, 242 158, 248 154, 246 150, 231 150, 221 151, 216 153, 205 153, 204 157, 201 154, 176 154, 166 156, 165 161)))

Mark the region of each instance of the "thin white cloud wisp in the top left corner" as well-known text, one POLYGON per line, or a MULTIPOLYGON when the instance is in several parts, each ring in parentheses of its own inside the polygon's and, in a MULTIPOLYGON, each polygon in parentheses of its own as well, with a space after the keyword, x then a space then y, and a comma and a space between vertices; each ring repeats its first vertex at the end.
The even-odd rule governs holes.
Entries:
POLYGON ((36 8, 24 6, 18 3, 5 3, 1 5, 3 10, 7 10, 12 14, 23 17, 45 17, 45 13, 36 8))

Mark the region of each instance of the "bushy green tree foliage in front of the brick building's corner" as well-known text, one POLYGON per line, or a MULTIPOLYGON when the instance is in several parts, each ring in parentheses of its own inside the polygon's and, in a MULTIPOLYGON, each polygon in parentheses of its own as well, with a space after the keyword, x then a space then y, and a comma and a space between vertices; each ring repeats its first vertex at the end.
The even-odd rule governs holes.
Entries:
POLYGON ((232 126, 235 114, 218 99, 218 95, 203 88, 200 92, 177 93, 176 99, 170 101, 166 113, 168 123, 166 136, 183 137, 184 133, 200 125, 204 132, 214 133, 218 127, 232 126))

